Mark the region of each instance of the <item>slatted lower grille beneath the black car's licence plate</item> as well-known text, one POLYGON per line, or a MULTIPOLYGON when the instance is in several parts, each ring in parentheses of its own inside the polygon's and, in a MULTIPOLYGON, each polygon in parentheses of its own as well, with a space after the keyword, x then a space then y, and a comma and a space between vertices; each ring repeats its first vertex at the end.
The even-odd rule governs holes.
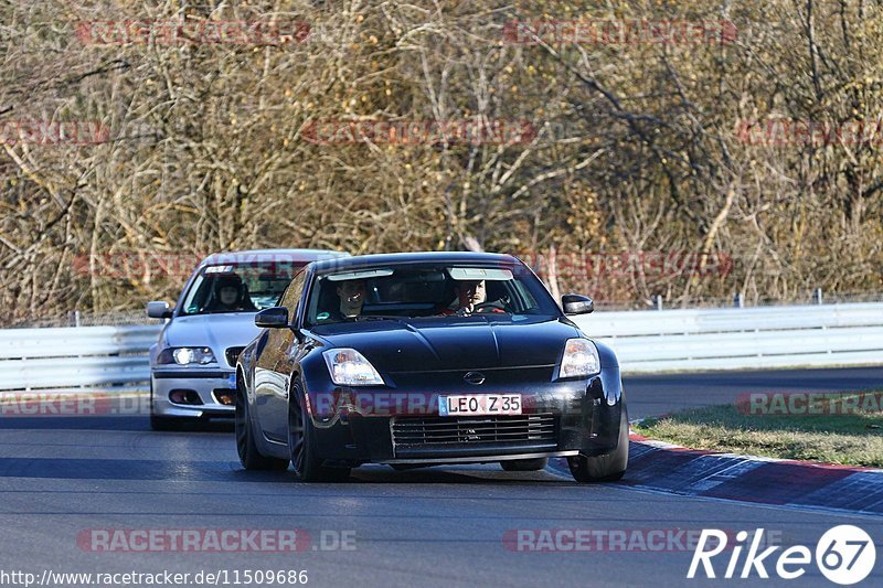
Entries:
POLYGON ((557 418, 552 414, 481 417, 397 417, 392 423, 393 443, 453 448, 478 445, 545 445, 557 440, 557 418))

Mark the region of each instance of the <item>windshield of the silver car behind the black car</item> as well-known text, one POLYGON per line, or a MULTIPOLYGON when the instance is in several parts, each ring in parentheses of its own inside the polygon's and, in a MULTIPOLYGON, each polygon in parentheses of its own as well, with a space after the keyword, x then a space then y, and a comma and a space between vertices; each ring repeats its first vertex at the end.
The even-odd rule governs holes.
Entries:
POLYGON ((182 314, 256 312, 276 304, 302 263, 224 264, 204 267, 184 297, 182 314))

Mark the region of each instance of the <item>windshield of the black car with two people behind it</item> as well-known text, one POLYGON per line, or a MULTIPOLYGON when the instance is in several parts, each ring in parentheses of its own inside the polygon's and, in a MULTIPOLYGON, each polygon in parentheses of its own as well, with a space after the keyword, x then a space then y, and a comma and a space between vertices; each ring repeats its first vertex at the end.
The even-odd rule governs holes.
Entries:
POLYGON ((551 317, 560 310, 542 282, 523 267, 425 264, 319 276, 307 323, 475 314, 551 317))

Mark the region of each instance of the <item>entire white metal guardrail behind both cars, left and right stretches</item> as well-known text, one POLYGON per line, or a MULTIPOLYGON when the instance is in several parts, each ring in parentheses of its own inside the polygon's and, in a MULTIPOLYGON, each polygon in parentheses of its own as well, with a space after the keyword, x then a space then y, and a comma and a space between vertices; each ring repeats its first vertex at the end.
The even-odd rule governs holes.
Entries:
MULTIPOLYGON (((883 365, 883 303, 597 312, 575 318, 624 373, 883 365)), ((0 389, 130 387, 159 324, 0 330, 0 389)))

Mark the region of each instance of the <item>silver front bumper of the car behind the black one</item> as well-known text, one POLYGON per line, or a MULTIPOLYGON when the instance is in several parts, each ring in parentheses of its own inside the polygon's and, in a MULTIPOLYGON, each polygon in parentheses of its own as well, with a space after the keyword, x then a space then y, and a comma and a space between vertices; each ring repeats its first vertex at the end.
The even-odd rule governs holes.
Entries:
POLYGON ((232 370, 213 368, 166 368, 152 370, 150 374, 152 391, 152 411, 162 417, 228 417, 234 414, 233 404, 222 404, 219 396, 224 393, 233 398, 236 392, 236 373, 232 370), (202 404, 173 403, 172 391, 193 391, 202 404))

